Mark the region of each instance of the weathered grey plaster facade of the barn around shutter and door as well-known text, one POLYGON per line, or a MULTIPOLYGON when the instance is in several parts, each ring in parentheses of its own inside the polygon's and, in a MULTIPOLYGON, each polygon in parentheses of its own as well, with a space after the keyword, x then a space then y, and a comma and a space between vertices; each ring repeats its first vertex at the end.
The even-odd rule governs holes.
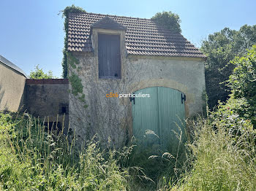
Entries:
MULTIPOLYGON (((124 31, 93 28, 94 52, 72 52, 78 59, 69 75, 78 74, 85 94, 84 107, 78 96, 69 93, 69 122, 78 137, 95 133, 105 141, 124 144, 132 136, 132 104, 129 98, 107 98, 108 93, 131 93, 146 87, 170 87, 187 95, 186 115, 202 111, 205 90, 205 58, 127 55, 124 31), (97 34, 121 36, 121 79, 99 79, 97 34)), ((72 87, 70 86, 71 91, 72 87)))

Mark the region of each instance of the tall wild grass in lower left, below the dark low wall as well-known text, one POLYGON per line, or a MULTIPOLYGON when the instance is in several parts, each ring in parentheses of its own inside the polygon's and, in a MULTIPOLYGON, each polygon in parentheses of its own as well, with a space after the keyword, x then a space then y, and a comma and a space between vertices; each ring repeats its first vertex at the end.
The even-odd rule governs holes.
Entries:
POLYGON ((30 116, 0 113, 0 186, 7 190, 129 190, 115 149, 50 130, 30 116))

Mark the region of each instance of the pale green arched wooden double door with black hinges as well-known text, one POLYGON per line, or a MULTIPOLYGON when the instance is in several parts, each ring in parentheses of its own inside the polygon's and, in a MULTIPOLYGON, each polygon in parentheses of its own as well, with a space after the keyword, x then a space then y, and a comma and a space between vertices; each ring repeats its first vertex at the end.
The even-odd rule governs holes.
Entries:
POLYGON ((156 144, 164 147, 176 144, 178 139, 173 130, 178 132, 178 126, 184 128, 185 106, 184 101, 181 103, 184 94, 168 87, 148 87, 135 92, 139 93, 150 94, 150 98, 135 98, 135 104, 132 103, 135 138, 143 139, 146 130, 153 130, 159 136, 152 140, 156 144))

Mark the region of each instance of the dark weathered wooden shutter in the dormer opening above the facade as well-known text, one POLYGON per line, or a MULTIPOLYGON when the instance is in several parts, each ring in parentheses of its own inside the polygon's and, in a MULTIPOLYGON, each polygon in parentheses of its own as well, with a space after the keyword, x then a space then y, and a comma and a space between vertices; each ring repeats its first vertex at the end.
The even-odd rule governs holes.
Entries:
POLYGON ((99 78, 121 78, 119 35, 98 35, 99 78))

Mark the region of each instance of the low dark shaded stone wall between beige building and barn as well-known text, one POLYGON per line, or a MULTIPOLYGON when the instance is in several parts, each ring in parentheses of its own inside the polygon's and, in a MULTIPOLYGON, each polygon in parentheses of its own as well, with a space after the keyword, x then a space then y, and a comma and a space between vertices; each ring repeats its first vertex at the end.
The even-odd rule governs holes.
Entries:
POLYGON ((68 79, 26 79, 23 109, 52 125, 59 122, 65 132, 69 125, 68 79), (64 123, 63 123, 64 122, 64 123))

